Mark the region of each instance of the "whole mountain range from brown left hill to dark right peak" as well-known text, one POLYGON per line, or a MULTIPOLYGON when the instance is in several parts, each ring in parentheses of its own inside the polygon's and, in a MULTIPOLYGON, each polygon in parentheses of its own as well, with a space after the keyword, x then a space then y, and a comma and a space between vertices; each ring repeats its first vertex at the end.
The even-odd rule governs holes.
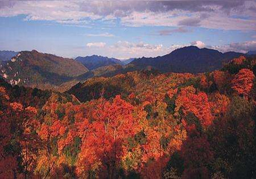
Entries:
POLYGON ((129 71, 155 69, 159 72, 201 73, 220 69, 230 59, 241 55, 237 52, 221 53, 218 50, 188 46, 158 57, 131 58, 121 61, 98 55, 63 58, 36 50, 1 51, 0 74, 12 85, 66 91, 78 82, 93 76, 113 76, 129 71), (9 60, 8 60, 9 59, 9 60))

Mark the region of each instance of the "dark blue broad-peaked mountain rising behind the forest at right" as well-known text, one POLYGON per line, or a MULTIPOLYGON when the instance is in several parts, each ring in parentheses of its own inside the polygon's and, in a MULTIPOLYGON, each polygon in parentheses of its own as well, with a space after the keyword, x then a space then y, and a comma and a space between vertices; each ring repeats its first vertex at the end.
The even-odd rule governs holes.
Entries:
POLYGON ((134 69, 144 69, 151 66, 161 72, 201 73, 219 69, 223 63, 241 55, 244 54, 236 52, 221 53, 214 49, 187 46, 173 50, 173 52, 164 56, 136 58, 128 65, 134 69))

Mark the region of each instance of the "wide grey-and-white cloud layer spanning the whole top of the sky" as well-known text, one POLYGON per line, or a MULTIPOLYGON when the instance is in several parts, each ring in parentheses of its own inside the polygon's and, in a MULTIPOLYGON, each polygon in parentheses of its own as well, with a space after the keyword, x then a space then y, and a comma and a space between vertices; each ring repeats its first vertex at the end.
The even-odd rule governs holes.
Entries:
POLYGON ((224 30, 255 30, 255 1, 199 2, 83 2, 22 1, 0 3, 0 16, 27 15, 26 20, 64 24, 110 23, 120 19, 127 26, 164 25, 224 30))

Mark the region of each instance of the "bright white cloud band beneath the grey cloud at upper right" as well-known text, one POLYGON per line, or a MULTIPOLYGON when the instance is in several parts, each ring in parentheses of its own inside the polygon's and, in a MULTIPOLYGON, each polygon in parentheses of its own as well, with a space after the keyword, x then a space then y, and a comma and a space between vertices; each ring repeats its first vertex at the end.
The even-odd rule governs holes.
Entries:
MULTIPOLYGON (((235 14, 232 14, 235 15, 235 14)), ((256 13, 254 17, 256 18, 256 13)), ((140 27, 142 25, 170 26, 170 27, 203 27, 223 30, 255 30, 255 19, 237 19, 222 11, 194 12, 173 10, 170 12, 133 12, 121 18, 127 26, 140 27)))

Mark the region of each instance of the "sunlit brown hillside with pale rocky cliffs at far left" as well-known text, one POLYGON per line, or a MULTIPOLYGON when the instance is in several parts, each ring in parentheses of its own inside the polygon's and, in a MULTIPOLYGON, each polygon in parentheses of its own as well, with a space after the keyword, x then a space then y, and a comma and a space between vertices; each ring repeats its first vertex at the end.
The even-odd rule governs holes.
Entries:
POLYGON ((84 65, 74 59, 32 50, 20 52, 7 61, 1 67, 0 74, 11 84, 46 89, 59 86, 87 71, 84 65))

